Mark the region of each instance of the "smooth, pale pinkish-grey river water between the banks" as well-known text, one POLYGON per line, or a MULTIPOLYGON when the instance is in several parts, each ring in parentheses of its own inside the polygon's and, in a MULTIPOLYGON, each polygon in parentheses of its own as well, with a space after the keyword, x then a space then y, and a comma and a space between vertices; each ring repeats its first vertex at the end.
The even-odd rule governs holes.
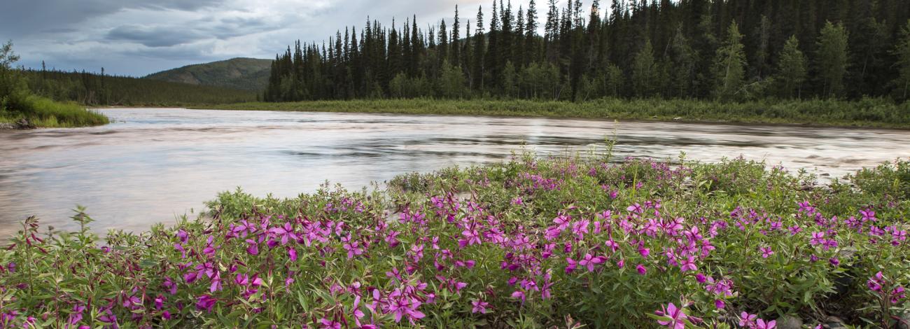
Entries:
POLYGON ((910 156, 910 132, 766 125, 183 109, 103 110, 114 124, 0 131, 0 236, 36 214, 72 228, 143 230, 198 211, 218 192, 295 196, 327 179, 359 187, 395 174, 501 161, 526 145, 583 151, 615 132, 619 156, 746 158, 843 175, 910 156))

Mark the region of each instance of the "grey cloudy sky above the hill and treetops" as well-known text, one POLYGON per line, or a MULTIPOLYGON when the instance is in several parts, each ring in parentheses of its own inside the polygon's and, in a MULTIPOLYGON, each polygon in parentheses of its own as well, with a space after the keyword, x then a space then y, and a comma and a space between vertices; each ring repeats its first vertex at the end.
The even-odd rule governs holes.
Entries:
MULTIPOLYGON (((13 40, 20 65, 45 61, 48 68, 105 67, 136 76, 232 57, 271 58, 297 39, 321 42, 345 25, 359 29, 368 15, 384 25, 418 15, 424 28, 443 18, 451 25, 456 4, 462 20, 473 20, 481 4, 490 15, 490 0, 3 1, 0 42, 13 40)), ((528 1, 512 5, 517 10, 528 1)), ((545 1, 538 3, 542 19, 545 1)))

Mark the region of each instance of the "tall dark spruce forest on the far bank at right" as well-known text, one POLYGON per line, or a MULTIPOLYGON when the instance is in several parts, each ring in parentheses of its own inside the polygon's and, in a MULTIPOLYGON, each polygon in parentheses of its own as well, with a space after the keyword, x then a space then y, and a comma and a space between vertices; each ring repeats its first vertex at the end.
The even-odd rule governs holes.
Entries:
POLYGON ((910 91, 905 0, 545 5, 493 0, 473 21, 456 6, 453 21, 427 28, 416 16, 390 26, 368 19, 328 43, 298 41, 276 56, 263 98, 904 101, 910 91))

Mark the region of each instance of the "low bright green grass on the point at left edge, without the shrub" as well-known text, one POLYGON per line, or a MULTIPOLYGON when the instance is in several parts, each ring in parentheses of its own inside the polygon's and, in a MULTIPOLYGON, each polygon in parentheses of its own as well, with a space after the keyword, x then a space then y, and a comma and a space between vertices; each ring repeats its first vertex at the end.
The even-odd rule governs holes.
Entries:
POLYGON ((55 102, 35 95, 15 97, 0 110, 0 122, 16 123, 26 119, 31 125, 43 128, 106 125, 110 120, 102 114, 73 102, 55 102))

